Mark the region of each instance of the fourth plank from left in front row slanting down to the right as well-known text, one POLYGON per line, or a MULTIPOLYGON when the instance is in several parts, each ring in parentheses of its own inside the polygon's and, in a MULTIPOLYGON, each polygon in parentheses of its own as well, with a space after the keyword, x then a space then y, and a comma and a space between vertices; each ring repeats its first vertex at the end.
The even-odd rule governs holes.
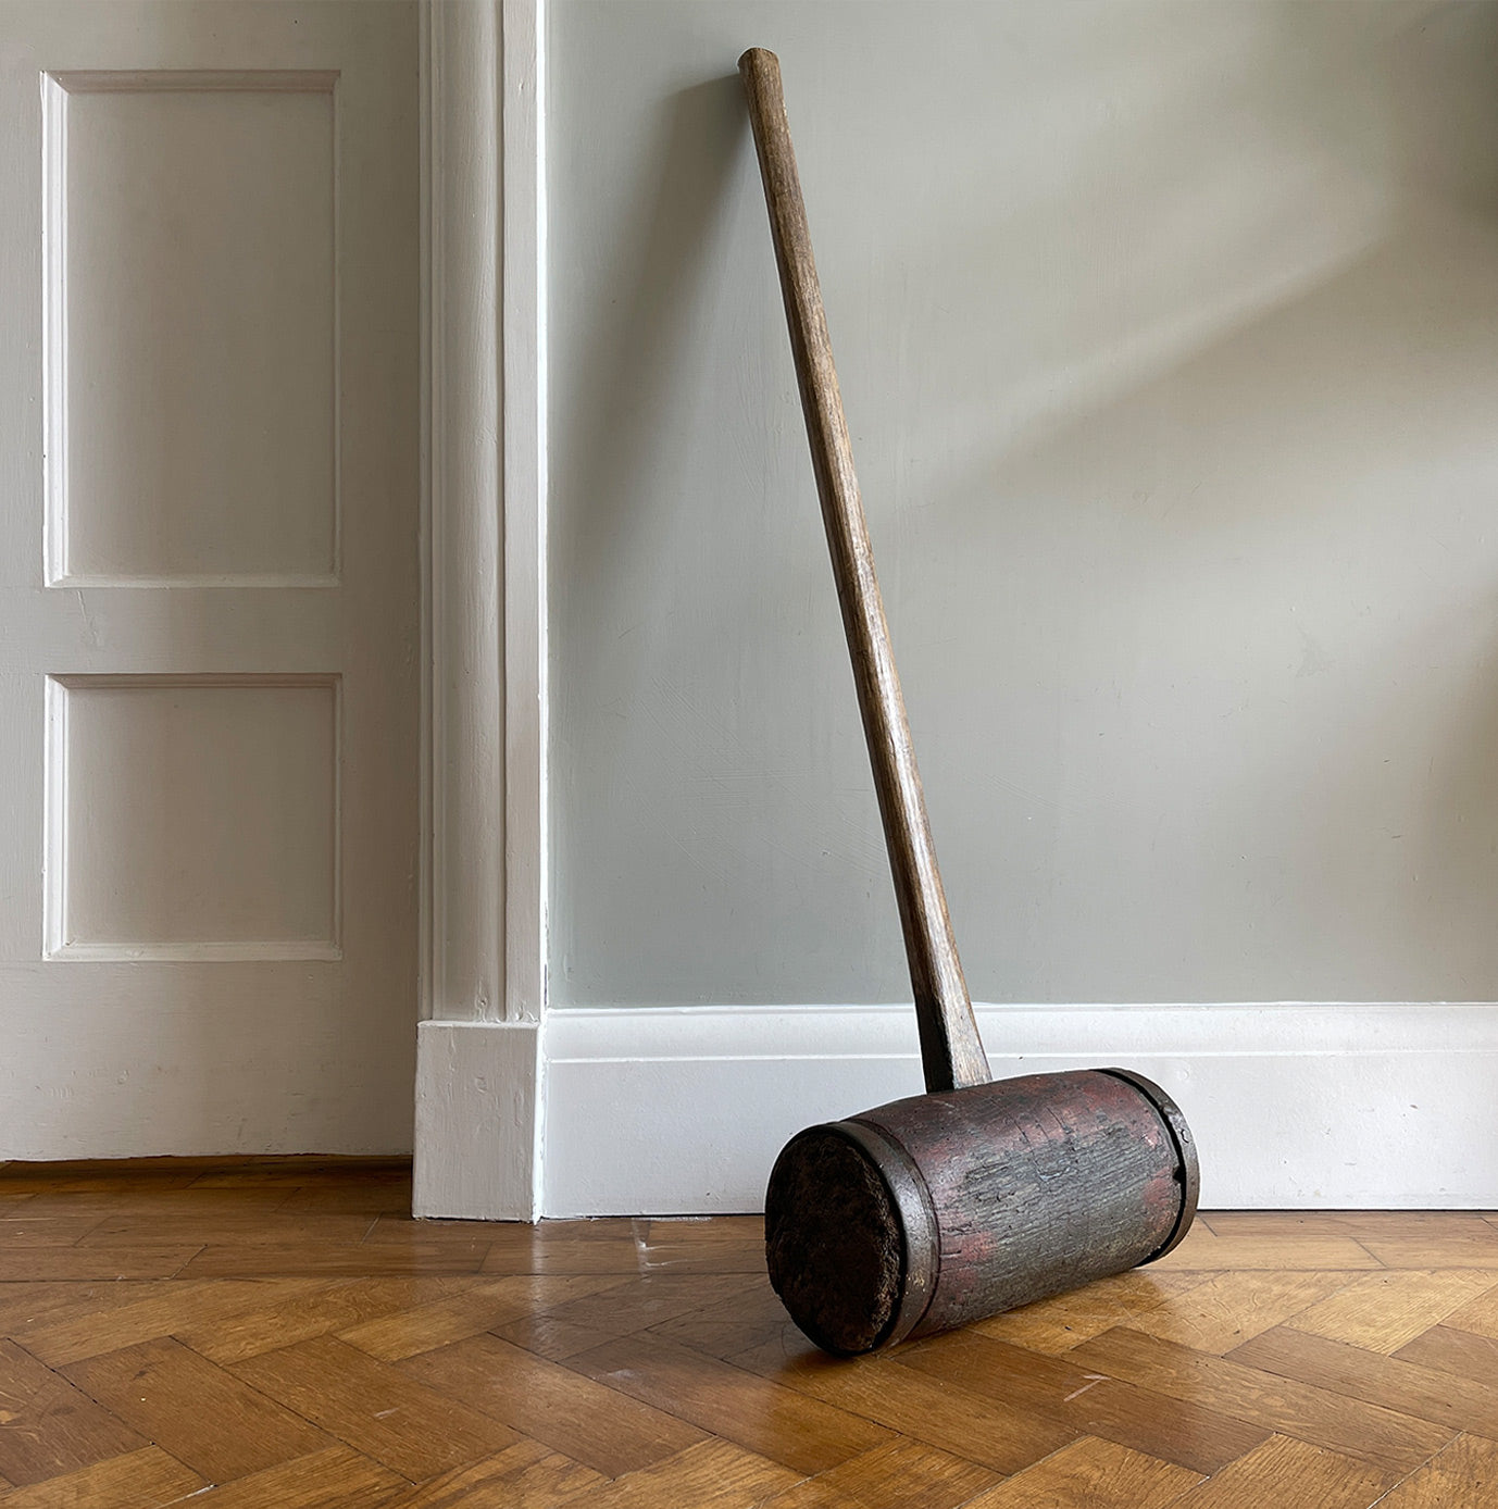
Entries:
POLYGON ((495 1335, 422 1352, 397 1366, 605 1477, 649 1467, 703 1440, 685 1420, 495 1335))

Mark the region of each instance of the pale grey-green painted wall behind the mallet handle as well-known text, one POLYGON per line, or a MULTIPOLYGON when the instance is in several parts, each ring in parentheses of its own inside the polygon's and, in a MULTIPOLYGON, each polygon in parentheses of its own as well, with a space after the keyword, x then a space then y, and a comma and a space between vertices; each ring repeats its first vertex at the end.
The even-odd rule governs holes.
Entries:
POLYGON ((555 0, 554 1002, 908 996, 751 44, 973 994, 1498 999, 1498 8, 555 0))

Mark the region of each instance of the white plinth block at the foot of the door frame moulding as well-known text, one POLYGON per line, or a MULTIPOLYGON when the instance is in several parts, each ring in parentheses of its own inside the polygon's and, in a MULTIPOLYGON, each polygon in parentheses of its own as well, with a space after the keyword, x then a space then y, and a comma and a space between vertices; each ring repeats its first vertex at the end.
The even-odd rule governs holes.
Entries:
POLYGON ((537 1213, 534 1022, 416 1028, 416 1216, 533 1221, 537 1213))

